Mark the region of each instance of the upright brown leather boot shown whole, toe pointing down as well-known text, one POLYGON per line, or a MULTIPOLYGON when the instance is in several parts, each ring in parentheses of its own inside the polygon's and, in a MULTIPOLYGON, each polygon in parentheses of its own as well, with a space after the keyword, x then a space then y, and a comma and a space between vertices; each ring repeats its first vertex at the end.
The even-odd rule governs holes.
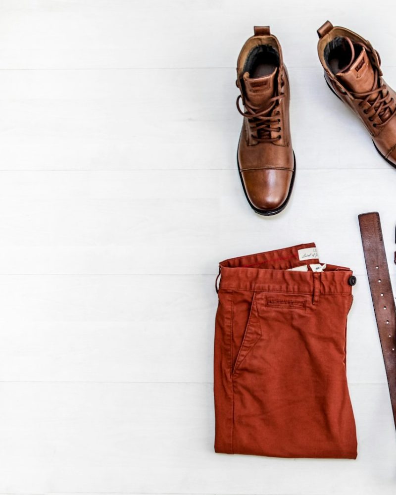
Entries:
POLYGON ((290 90, 282 49, 269 26, 254 27, 238 57, 237 107, 244 116, 238 167, 247 201, 275 215, 289 201, 296 163, 289 123, 290 90), (245 111, 239 106, 242 99, 245 111))

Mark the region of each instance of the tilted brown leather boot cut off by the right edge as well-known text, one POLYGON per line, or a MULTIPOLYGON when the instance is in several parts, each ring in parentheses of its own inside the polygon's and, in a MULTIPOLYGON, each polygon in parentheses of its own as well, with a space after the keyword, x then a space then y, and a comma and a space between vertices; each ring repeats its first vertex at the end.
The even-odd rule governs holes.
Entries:
POLYGON ((360 117, 377 151, 396 167, 396 94, 382 79, 377 50, 358 34, 329 21, 317 33, 329 88, 360 117))

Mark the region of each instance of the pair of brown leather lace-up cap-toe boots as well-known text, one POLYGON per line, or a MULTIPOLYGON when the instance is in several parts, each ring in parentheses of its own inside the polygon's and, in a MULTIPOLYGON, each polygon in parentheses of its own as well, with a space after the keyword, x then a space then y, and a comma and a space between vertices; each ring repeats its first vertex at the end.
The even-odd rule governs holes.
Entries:
MULTIPOLYGON (((326 83, 360 117, 380 155, 396 167, 396 95, 382 78, 377 50, 329 21, 317 33, 326 83)), ((254 36, 243 46, 237 86, 241 90, 237 106, 244 116, 238 145, 242 185, 254 211, 275 215, 291 196, 296 158, 290 134, 288 72, 269 26, 254 27, 254 36)))

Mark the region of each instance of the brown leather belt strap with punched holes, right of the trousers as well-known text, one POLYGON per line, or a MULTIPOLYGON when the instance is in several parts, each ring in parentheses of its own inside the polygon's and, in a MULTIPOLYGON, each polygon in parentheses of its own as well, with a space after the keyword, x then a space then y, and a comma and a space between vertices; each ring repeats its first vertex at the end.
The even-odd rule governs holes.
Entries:
POLYGON ((364 258, 396 426, 396 308, 377 212, 359 215, 364 258))

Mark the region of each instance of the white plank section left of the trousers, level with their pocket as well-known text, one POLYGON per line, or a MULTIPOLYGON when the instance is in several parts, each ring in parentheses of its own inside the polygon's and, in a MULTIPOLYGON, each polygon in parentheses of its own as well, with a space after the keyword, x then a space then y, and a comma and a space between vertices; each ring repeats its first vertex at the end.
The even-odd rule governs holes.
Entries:
POLYGON ((213 381, 212 277, 7 276, 0 295, 2 381, 213 381))

